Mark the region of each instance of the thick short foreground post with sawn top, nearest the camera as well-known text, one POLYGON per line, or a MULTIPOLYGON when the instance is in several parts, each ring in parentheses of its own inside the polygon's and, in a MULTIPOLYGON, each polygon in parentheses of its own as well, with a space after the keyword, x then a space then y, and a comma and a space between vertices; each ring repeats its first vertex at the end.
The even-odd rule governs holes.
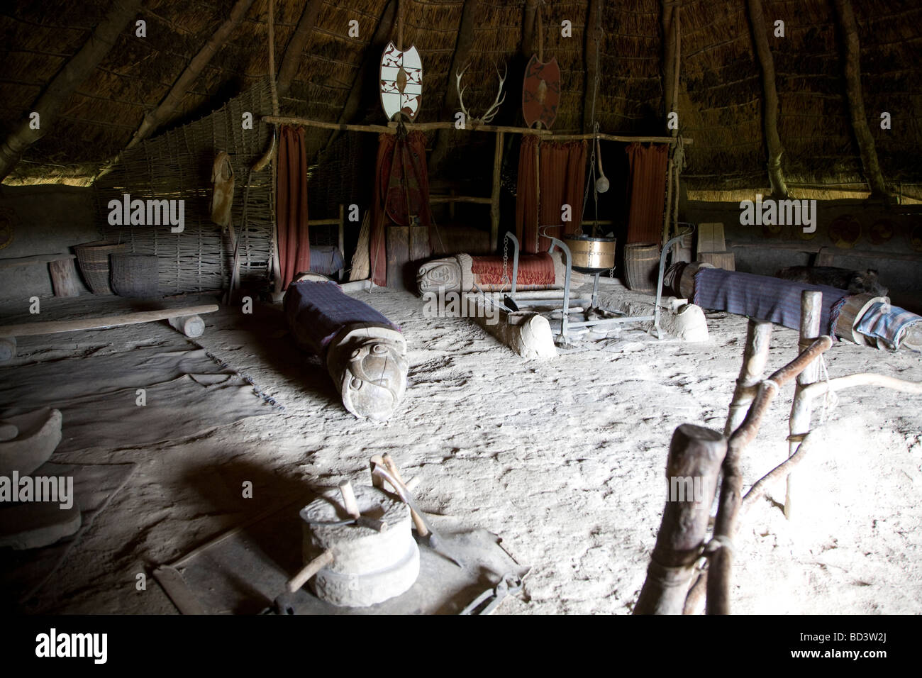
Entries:
POLYGON ((682 613, 726 454, 727 438, 703 426, 683 423, 672 434, 666 465, 666 508, 634 614, 682 613), (680 488, 682 496, 678 494, 680 488))

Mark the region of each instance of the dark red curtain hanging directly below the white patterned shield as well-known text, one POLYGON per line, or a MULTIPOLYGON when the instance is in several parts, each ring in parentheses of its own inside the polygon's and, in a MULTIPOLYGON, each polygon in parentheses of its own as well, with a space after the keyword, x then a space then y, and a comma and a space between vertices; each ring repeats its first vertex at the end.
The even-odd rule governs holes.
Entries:
POLYGON ((369 256, 375 285, 387 284, 387 227, 407 226, 410 217, 418 217, 420 226, 429 227, 431 239, 434 220, 429 205, 426 136, 420 131, 409 132, 404 140, 393 134, 379 135, 369 256))

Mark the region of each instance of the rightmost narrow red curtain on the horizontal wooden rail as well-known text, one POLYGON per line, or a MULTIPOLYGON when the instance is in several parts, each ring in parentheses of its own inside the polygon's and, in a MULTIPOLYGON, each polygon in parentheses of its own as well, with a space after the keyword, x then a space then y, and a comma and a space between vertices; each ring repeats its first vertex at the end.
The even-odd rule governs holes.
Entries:
POLYGON ((666 169, 669 147, 666 144, 644 146, 634 142, 628 154, 630 185, 628 197, 627 244, 660 244, 663 234, 663 209, 666 208, 666 169))

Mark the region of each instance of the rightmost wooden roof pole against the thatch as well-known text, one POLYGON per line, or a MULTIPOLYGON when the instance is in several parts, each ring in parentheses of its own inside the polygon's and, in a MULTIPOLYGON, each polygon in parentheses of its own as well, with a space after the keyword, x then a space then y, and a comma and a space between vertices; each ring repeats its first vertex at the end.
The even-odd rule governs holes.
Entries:
POLYGON ((858 44, 858 27, 850 0, 835 0, 835 15, 839 19, 845 58, 845 94, 848 97, 848 111, 851 113, 852 130, 861 154, 861 166, 870 186, 871 197, 889 197, 887 184, 883 181, 881 164, 877 160, 874 137, 870 135, 868 116, 864 110, 861 94, 861 53, 858 44))

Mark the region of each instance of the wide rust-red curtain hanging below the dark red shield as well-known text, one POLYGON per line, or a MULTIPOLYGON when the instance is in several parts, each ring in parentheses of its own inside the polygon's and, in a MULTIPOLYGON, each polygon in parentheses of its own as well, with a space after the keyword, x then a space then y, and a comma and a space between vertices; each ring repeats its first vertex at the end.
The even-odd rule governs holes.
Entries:
POLYGON ((528 135, 519 149, 518 187, 515 192, 515 233, 522 251, 545 252, 550 240, 538 238, 540 226, 551 234, 582 231, 585 191, 585 141, 541 141, 528 135), (541 208, 538 215, 535 159, 540 153, 541 208), (570 206, 570 220, 563 221, 561 208, 570 206))

